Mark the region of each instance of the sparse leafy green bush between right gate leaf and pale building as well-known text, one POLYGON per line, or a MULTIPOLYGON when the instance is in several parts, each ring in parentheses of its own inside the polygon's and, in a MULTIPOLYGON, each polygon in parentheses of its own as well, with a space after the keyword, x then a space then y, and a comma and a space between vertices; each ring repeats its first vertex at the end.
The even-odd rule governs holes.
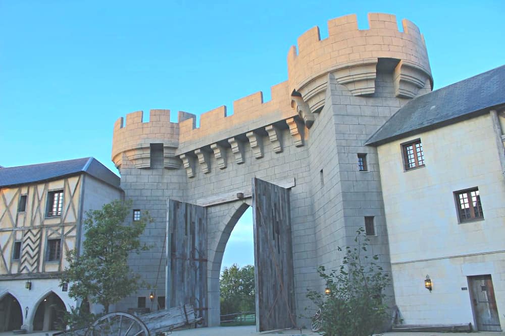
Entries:
MULTIPOLYGON (((328 336, 368 336, 385 326, 388 307, 384 289, 390 278, 377 264, 378 255, 366 255, 369 243, 364 229, 357 231, 355 246, 346 246, 342 264, 326 273, 319 266, 328 294, 309 291, 310 298, 321 309, 323 330, 328 336)), ((343 251, 338 247, 338 251, 343 251)))

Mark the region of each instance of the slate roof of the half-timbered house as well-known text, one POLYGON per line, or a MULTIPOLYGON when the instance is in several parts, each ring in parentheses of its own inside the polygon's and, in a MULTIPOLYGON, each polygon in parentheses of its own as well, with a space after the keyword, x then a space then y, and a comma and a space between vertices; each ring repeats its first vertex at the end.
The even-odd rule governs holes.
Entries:
POLYGON ((0 169, 0 187, 55 180, 82 172, 119 188, 120 178, 91 157, 28 166, 4 167, 0 169))

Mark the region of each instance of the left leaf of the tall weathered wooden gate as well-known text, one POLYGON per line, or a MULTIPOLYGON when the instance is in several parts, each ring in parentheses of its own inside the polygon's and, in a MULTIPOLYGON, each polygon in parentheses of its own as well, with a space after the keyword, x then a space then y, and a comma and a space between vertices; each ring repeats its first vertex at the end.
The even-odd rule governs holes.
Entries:
POLYGON ((207 325, 207 210, 170 199, 167 217, 167 308, 190 303, 207 325))

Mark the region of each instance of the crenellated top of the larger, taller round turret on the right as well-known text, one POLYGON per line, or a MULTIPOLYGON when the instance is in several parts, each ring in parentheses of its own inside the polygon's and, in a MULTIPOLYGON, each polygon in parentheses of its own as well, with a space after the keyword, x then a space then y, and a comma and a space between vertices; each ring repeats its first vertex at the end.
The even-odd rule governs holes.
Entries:
POLYGON ((290 48, 289 87, 301 94, 312 111, 323 104, 323 82, 328 73, 353 95, 373 94, 379 58, 398 60, 398 97, 415 97, 427 80, 432 86, 428 53, 419 28, 404 19, 400 32, 396 17, 382 13, 369 13, 368 22, 370 28, 360 30, 356 15, 332 19, 328 21, 328 38, 321 40, 319 27, 314 27, 298 38, 297 48, 290 48))

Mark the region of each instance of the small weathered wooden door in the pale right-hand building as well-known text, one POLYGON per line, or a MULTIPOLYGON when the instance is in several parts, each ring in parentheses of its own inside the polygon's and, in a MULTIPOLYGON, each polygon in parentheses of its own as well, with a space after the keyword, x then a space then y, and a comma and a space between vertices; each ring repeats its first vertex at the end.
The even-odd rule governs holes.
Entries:
POLYGON ((501 331, 490 275, 468 277, 470 299, 479 331, 501 331))

